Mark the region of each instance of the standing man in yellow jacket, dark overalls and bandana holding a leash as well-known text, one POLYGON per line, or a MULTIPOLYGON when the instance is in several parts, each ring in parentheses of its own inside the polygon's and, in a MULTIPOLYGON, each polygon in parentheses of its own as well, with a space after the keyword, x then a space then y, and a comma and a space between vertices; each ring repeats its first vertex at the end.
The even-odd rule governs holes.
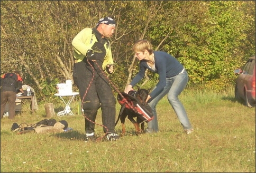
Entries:
POLYGON ((115 97, 111 85, 102 72, 112 74, 113 57, 108 38, 114 34, 115 21, 111 17, 100 18, 96 27, 84 28, 73 39, 74 82, 79 89, 88 139, 95 138, 95 119, 102 110, 103 131, 108 140, 119 139, 115 132, 115 97))

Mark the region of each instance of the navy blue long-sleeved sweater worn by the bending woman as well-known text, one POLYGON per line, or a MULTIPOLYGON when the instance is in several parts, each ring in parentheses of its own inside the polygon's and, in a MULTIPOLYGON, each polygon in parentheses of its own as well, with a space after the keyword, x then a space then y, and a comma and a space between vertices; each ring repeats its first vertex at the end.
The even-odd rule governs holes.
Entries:
POLYGON ((144 77, 146 69, 149 69, 154 73, 158 73, 159 82, 156 85, 157 88, 150 93, 151 98, 156 97, 163 90, 163 88, 166 86, 166 78, 176 76, 184 69, 184 66, 170 54, 162 51, 154 51, 153 53, 156 70, 153 71, 147 64, 147 61, 141 60, 140 71, 138 74, 136 74, 136 76, 130 83, 130 85, 134 87, 134 85, 137 84, 144 77))

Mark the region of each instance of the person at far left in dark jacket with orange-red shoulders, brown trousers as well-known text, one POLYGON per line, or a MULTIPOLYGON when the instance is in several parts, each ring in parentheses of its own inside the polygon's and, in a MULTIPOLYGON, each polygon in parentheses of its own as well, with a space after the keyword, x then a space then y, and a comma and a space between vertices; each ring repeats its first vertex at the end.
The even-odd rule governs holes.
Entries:
POLYGON ((22 89, 22 78, 19 71, 6 73, 1 77, 1 119, 4 116, 5 104, 8 101, 8 118, 14 119, 15 101, 17 90, 24 93, 22 89))

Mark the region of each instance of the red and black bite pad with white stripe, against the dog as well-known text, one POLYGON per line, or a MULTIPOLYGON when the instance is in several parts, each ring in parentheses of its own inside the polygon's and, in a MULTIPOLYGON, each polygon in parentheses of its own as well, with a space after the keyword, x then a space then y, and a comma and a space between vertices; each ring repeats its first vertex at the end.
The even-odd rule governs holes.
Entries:
POLYGON ((126 94, 125 92, 121 92, 121 94, 124 98, 122 98, 120 94, 117 95, 117 101, 122 106, 119 114, 122 114, 123 110, 126 108, 133 110, 135 113, 138 114, 139 118, 147 123, 154 118, 149 104, 146 103, 142 105, 139 99, 136 98, 135 91, 131 94, 126 94), (127 103, 129 103, 130 105, 127 103))

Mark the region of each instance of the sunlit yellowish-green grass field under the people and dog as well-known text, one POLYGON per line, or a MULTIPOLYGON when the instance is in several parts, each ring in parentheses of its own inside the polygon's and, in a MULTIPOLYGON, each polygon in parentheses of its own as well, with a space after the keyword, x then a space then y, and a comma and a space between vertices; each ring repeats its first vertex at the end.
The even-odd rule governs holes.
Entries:
MULTIPOLYGON (((195 129, 189 135, 163 98, 157 105, 160 132, 136 136, 126 119, 126 136, 112 142, 84 142, 78 101, 71 103, 75 116, 53 117, 74 131, 18 135, 10 130, 13 122, 45 118, 44 105, 30 114, 23 104, 15 120, 1 120, 1 172, 255 172, 255 108, 236 102, 233 93, 185 90, 180 100, 195 129)), ((62 105, 54 103, 56 113, 62 105)), ((119 109, 117 103, 116 117, 119 109)), ((100 111, 96 122, 102 122, 100 111)), ((102 127, 95 130, 104 135, 102 127)))

